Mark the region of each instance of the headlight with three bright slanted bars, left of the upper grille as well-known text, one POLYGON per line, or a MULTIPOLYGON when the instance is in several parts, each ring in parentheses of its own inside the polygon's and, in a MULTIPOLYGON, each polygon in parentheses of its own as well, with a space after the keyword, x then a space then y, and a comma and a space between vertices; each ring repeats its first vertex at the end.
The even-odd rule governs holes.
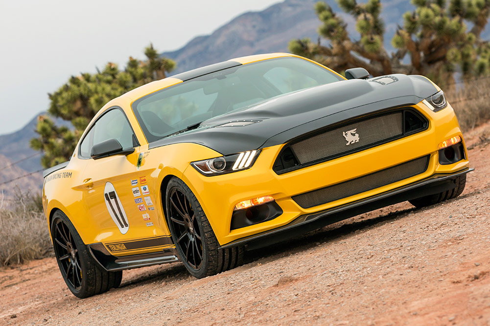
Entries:
POLYGON ((226 174, 250 168, 259 156, 260 149, 213 159, 192 162, 191 165, 205 176, 226 174))

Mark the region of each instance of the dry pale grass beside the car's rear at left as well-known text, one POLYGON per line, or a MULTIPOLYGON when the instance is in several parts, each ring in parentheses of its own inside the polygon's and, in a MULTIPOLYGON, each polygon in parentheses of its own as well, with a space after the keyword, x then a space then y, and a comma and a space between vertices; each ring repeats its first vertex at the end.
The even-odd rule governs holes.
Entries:
POLYGON ((14 207, 0 207, 0 266, 52 255, 40 198, 21 194, 16 196, 14 207))

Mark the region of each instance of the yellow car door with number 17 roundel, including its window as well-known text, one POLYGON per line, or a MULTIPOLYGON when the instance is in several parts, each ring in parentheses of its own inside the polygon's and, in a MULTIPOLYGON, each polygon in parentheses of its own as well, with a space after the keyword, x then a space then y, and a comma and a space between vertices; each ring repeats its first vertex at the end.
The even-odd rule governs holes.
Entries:
POLYGON ((139 154, 133 129, 120 108, 109 109, 100 116, 80 145, 79 156, 88 160, 83 172, 84 201, 98 231, 96 242, 155 235, 155 226, 146 218, 144 190, 139 186, 139 154), (109 139, 118 140, 124 150, 134 148, 135 151, 97 160, 90 158, 89 149, 109 139))

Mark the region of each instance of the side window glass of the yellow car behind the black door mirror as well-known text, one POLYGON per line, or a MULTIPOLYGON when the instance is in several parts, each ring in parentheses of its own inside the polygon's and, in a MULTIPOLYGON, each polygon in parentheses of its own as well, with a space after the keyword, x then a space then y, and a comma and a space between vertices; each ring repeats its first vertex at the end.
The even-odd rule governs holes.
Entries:
POLYGON ((133 130, 124 113, 119 109, 112 109, 101 116, 80 143, 80 156, 90 157, 94 145, 109 139, 116 139, 123 149, 132 148, 133 130))

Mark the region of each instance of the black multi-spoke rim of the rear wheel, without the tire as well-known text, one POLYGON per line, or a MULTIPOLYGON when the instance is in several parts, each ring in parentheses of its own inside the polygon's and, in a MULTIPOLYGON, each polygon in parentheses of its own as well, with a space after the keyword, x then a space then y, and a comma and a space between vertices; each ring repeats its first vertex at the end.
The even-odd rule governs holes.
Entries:
POLYGON ((73 241, 72 233, 61 219, 56 220, 54 225, 54 252, 60 262, 62 274, 77 291, 82 286, 82 268, 78 249, 73 241))

